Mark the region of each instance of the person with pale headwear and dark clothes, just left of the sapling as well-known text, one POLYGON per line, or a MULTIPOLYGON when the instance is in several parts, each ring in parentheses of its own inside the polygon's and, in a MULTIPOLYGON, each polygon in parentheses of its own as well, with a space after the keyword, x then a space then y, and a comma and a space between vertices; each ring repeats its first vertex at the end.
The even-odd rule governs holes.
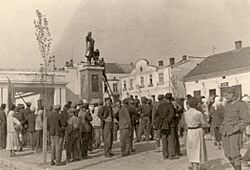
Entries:
POLYGON ((36 120, 36 115, 35 107, 30 108, 30 113, 27 115, 25 123, 27 124, 27 137, 28 137, 28 144, 32 150, 35 149, 35 135, 36 135, 36 130, 35 130, 35 120, 36 120))

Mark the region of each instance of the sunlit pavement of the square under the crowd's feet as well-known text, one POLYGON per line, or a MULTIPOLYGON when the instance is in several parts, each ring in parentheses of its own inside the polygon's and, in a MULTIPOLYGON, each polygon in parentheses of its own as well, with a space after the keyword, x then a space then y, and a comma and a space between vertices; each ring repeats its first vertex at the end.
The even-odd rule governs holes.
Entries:
MULTIPOLYGON (((231 166, 223 155, 223 150, 218 150, 212 141, 206 141, 208 162, 202 165, 202 170, 231 170, 231 166)), ((7 151, 0 151, 0 159, 7 159, 13 163, 19 163, 18 168, 25 164, 41 170, 187 170, 187 157, 181 156, 175 160, 163 160, 161 149, 155 149, 154 141, 137 143, 136 152, 127 157, 121 157, 120 148, 113 149, 115 154, 112 158, 103 156, 103 149, 89 153, 89 159, 69 163, 64 166, 42 165, 42 154, 34 154, 32 151, 17 153, 14 158, 9 158, 7 151)), ((182 150, 184 149, 182 145, 182 150)), ((242 152, 245 152, 243 150, 242 152)), ((63 153, 63 160, 65 152, 63 153)), ((48 157, 49 160, 49 157, 48 157)), ((0 162, 1 164, 1 162, 0 162)), ((0 170, 14 170, 0 165, 0 170)), ((23 168, 20 168, 23 169, 23 168)), ((26 170, 26 169, 25 169, 26 170)), ((243 168, 247 170, 247 168, 243 168)))

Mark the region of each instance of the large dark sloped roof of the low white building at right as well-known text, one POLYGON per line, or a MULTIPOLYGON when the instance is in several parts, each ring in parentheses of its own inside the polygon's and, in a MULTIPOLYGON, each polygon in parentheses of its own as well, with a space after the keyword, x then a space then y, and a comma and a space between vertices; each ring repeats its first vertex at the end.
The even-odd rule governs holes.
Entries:
POLYGON ((244 68, 250 68, 250 47, 208 56, 184 80, 244 68))

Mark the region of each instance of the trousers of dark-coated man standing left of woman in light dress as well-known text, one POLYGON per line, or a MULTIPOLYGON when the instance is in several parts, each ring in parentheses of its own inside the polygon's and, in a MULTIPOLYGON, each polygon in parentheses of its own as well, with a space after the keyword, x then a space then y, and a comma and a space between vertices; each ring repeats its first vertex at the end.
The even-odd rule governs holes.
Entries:
POLYGON ((175 155, 175 146, 173 143, 174 135, 172 128, 168 131, 161 130, 162 137, 162 155, 165 158, 171 158, 175 155))

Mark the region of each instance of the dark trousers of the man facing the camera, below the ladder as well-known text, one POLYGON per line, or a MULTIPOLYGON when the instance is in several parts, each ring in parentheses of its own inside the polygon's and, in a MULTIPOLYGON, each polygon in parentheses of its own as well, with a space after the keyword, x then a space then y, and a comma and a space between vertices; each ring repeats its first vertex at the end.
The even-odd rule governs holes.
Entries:
POLYGON ((105 122, 103 128, 104 155, 111 156, 113 145, 113 122, 105 122))

